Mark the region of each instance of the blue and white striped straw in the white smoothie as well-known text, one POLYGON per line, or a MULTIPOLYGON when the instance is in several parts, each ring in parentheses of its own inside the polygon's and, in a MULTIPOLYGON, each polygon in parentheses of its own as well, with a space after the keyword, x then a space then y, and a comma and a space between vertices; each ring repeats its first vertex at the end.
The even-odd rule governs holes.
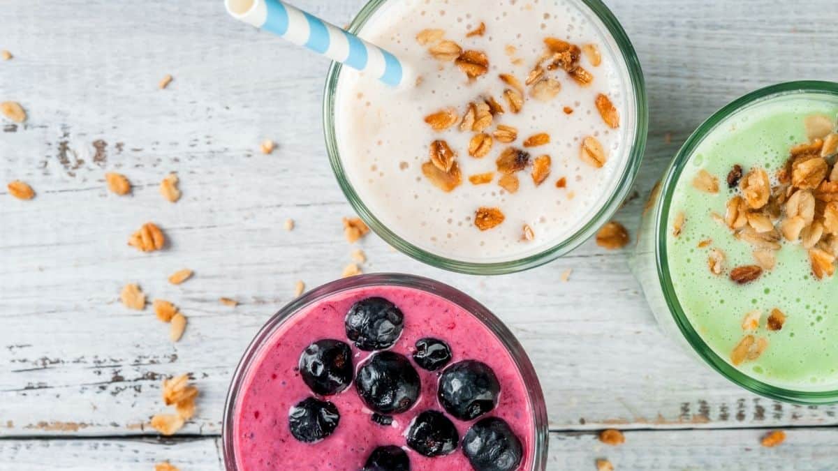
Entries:
POLYGON ((282 0, 225 0, 233 18, 262 28, 331 60, 399 85, 404 70, 396 56, 282 0))

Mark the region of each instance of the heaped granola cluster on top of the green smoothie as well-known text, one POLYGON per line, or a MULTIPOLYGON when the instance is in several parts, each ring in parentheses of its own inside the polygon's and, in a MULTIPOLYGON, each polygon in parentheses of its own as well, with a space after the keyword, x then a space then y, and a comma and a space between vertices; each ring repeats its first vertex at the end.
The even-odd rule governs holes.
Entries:
MULTIPOLYGON (((838 256, 838 132, 835 120, 809 116, 805 120, 809 142, 789 150, 785 165, 774 175, 764 168, 744 172, 735 165, 727 174, 727 186, 737 190, 727 201, 725 214, 713 214, 732 234, 753 249, 753 265, 734 267, 733 282, 758 279, 776 264, 782 241, 808 251, 812 273, 818 279, 835 273, 838 256)), ((719 192, 719 179, 701 170, 693 186, 706 193, 719 192)), ((725 272, 724 254, 713 249, 708 259, 711 272, 725 272)))

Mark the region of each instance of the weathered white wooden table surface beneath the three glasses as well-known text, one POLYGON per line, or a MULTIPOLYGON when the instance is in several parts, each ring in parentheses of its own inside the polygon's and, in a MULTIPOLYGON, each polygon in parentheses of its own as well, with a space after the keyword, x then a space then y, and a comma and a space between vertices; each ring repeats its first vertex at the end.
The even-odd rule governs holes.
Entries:
MULTIPOLYGON (((297 0, 348 23, 363 0, 297 0)), ((680 143, 712 111, 763 85, 835 79, 838 26, 826 0, 612 0, 644 65, 649 145, 629 228, 680 143)), ((221 469, 220 418, 236 362, 265 320, 351 261, 340 218, 352 210, 328 167, 320 123, 327 60, 227 17, 220 0, 6 0, 0 8, 0 101, 28 121, 0 128, 0 468, 221 469), (163 75, 174 77, 158 90, 163 75), (258 146, 278 143, 272 155, 258 146), (132 196, 106 191, 125 173, 132 196), (183 198, 158 183, 177 172, 183 198), (37 197, 13 199, 22 179, 37 197), (291 232, 287 218, 297 221, 291 232), (147 220, 171 247, 142 254, 127 236, 147 220), (166 277, 195 276, 179 287, 166 277), (189 318, 184 339, 150 308, 130 311, 138 282, 189 318), (221 305, 235 298, 237 308, 221 305), (160 381, 189 372, 194 420, 162 439, 160 381)), ((831 406, 748 394, 660 334, 629 251, 588 242, 549 266, 504 277, 442 272, 375 235, 365 272, 410 272, 470 293, 513 330, 541 377, 550 469, 835 469, 831 406), (572 268, 570 282, 561 273, 572 268), (597 441, 618 427, 626 443, 597 441), (789 433, 778 448, 759 437, 789 433)))

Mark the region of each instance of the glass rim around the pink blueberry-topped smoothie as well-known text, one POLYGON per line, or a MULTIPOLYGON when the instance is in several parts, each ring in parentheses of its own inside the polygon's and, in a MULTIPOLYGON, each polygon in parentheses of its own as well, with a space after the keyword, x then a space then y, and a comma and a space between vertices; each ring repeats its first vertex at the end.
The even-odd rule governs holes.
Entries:
POLYGON ((506 325, 489 310, 489 308, 486 308, 482 303, 479 303, 476 299, 472 298, 465 292, 430 278, 417 277, 415 275, 407 275, 403 273, 374 273, 358 275, 355 277, 341 278, 333 282, 325 283, 309 292, 304 293, 299 298, 294 299, 291 303, 287 303, 266 321, 266 323, 253 337, 251 343, 247 345, 245 353, 241 356, 241 360, 239 360, 238 365, 235 367, 235 372, 230 380, 230 387, 227 390, 224 405, 224 417, 221 421, 221 442, 225 468, 228 471, 236 471, 238 469, 238 465, 235 460, 235 435, 233 432, 235 423, 235 404, 238 400, 246 375, 251 369, 252 362, 256 359, 256 355, 261 351, 261 348, 266 344, 266 341, 271 339, 272 334, 301 309, 339 292, 362 287, 376 286, 408 287, 428 292, 440 298, 446 299, 448 302, 457 304, 459 307, 472 314, 478 319, 478 321, 480 321, 480 323, 483 323, 484 326, 486 326, 486 328, 489 329, 495 337, 497 337, 497 339, 499 339, 500 343, 510 354, 515 366, 520 372, 521 378, 526 386, 525 390, 527 391, 527 399, 530 401, 530 406, 532 408, 532 423, 534 429, 532 437, 533 466, 529 471, 544 471, 547 464, 547 447, 550 442, 546 402, 544 399, 544 392, 541 389, 541 382, 538 380, 538 375, 535 374, 535 367, 530 362, 530 357, 526 355, 524 347, 521 346, 518 339, 515 339, 515 335, 512 334, 510 329, 507 328, 506 325))

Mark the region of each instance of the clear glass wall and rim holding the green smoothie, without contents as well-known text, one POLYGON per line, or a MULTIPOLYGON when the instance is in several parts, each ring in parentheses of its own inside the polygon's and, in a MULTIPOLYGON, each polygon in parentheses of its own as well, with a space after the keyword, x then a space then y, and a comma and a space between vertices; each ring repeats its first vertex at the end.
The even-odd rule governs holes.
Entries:
MULTIPOLYGON (((660 329, 713 370, 716 370, 738 386, 761 396, 778 401, 799 404, 828 404, 838 402, 838 391, 795 391, 773 386, 754 379, 731 365, 701 338, 684 312, 673 286, 667 261, 667 236, 670 234, 670 204, 681 173, 701 146, 704 139, 722 126, 731 126, 734 119, 753 106, 773 104, 776 101, 794 99, 798 96, 825 96, 835 101, 838 84, 821 81, 794 81, 768 86, 742 96, 716 111, 696 132, 686 140, 675 155, 664 178, 655 185, 644 208, 643 219, 637 235, 637 246, 630 262, 634 276, 643 287, 649 307, 654 313, 660 329), (770 102, 770 103, 769 103, 770 102)), ((723 212, 723 209, 722 209, 723 212)))

